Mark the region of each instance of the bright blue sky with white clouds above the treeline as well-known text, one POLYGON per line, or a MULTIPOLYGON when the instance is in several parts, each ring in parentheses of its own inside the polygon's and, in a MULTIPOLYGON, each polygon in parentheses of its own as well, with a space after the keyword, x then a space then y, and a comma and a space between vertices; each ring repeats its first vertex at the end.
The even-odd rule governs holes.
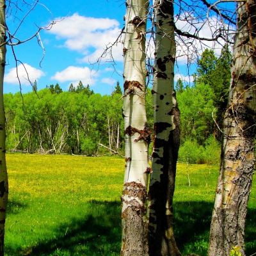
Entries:
MULTIPOLYGON (((29 3, 33 2, 33 0, 29 1, 29 3)), ((20 20, 29 12, 15 33, 19 40, 34 35, 38 27, 47 26, 52 21, 52 17, 56 20, 51 30, 40 31, 45 55, 36 38, 13 47, 17 60, 22 61, 26 67, 31 82, 36 80, 38 90, 56 83, 59 83, 63 90, 68 90, 70 83, 76 86, 82 81, 84 85, 89 84, 94 92, 104 95, 112 92, 117 81, 123 83, 122 44, 113 47, 115 66, 109 62, 109 56, 102 59, 100 65, 92 65, 92 63, 100 57, 106 45, 115 42, 124 27, 124 0, 42 0, 40 3, 31 12, 28 6, 20 5, 22 12, 12 10, 6 19, 8 29, 14 33, 20 25, 20 20), (42 60, 43 56, 44 60, 42 60)), ((212 22, 215 22, 214 17, 212 22)), ((187 31, 193 29, 182 22, 178 22, 177 26, 187 31)), ((200 33, 204 36, 212 33, 209 24, 200 33)), ((197 49, 196 47, 196 45, 191 47, 192 51, 197 49)), ((212 44, 207 43, 205 47, 212 47, 212 44)), ((198 46, 198 51, 202 52, 203 49, 199 48, 198 46)), ((180 58, 177 59, 179 68, 176 68, 175 80, 182 77, 184 81, 189 81, 193 70, 189 76, 186 63, 188 55, 193 61, 193 52, 186 52, 184 45, 178 42, 177 55, 180 58)), ((10 46, 7 47, 6 64, 4 93, 19 92, 15 60, 10 46)), ((28 82, 25 69, 20 63, 18 66, 22 93, 29 92, 31 84, 28 82)))

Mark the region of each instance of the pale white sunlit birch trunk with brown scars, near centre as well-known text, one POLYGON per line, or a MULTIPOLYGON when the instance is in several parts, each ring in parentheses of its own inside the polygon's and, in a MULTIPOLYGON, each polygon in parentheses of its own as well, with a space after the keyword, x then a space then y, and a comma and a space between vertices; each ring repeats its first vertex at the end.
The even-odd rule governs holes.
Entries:
POLYGON ((121 255, 147 255, 148 143, 145 108, 145 29, 148 1, 128 0, 124 38, 125 177, 121 255))

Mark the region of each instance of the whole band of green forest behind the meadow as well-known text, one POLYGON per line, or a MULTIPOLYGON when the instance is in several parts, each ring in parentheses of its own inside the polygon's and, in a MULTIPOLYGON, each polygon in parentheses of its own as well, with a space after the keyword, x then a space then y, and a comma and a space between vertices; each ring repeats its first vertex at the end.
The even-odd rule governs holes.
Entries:
MULTIPOLYGON (((198 60, 193 86, 176 84, 180 108, 179 161, 218 163, 221 116, 230 84, 230 53, 221 56, 206 49, 198 60), (215 120, 215 121, 214 121, 215 120)), ((152 130, 152 95, 147 90, 148 125, 152 130)), ((51 154, 107 154, 99 143, 124 151, 122 90, 119 82, 111 95, 93 93, 90 86, 70 84, 68 92, 51 84, 33 92, 4 95, 6 149, 51 154), (99 152, 100 150, 100 152, 99 152)))

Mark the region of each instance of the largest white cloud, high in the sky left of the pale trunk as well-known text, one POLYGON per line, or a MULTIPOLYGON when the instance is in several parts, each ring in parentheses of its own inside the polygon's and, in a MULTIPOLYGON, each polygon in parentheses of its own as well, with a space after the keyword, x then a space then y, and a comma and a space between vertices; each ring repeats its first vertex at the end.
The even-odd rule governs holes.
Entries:
MULTIPOLYGON (((61 18, 58 18, 61 20, 61 18)), ((49 33, 64 40, 64 47, 81 52, 81 61, 95 62, 107 45, 113 44, 120 34, 119 22, 115 19, 84 17, 78 13, 57 22, 49 33)), ((122 61, 122 45, 113 47, 115 61, 122 61)), ((107 54, 106 59, 110 56, 107 54)))

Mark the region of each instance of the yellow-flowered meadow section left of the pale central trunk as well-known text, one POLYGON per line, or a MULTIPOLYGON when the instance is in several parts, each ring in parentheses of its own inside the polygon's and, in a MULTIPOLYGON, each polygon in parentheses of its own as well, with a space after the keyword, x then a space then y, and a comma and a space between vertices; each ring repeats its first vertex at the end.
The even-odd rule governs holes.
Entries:
POLYGON ((121 159, 7 155, 6 255, 119 255, 121 159))

